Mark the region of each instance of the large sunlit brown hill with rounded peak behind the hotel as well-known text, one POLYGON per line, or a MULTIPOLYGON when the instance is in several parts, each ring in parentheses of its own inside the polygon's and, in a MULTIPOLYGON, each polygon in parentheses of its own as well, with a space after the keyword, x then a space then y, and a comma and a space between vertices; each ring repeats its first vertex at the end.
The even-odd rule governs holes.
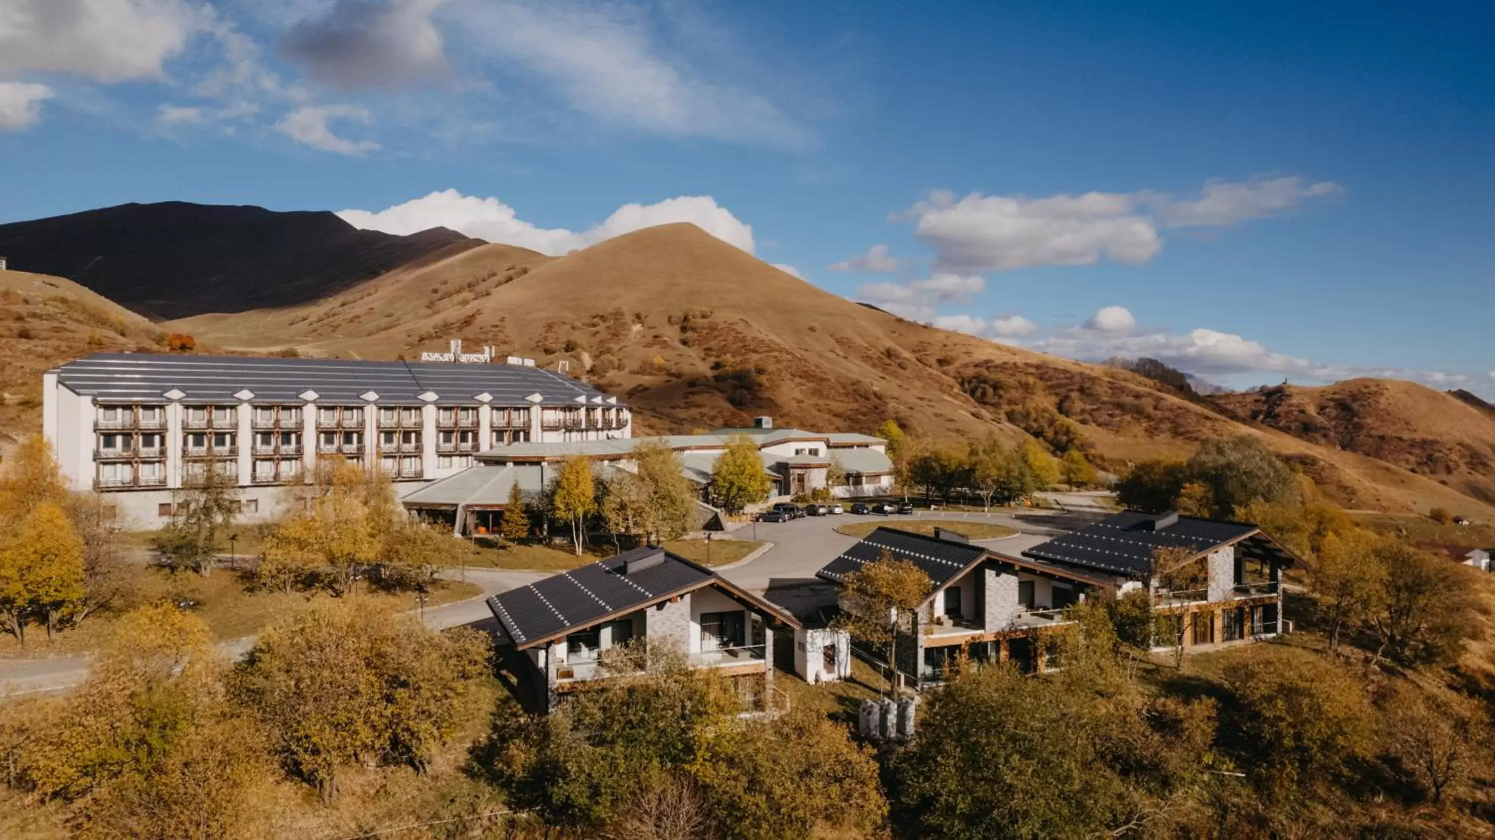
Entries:
POLYGON ((392 272, 326 300, 167 324, 247 351, 395 357, 496 345, 623 396, 644 430, 745 423, 873 430, 894 417, 960 442, 1055 441, 1067 423, 1114 468, 1263 436, 1350 507, 1495 514, 1375 459, 1248 427, 1144 377, 937 330, 789 277, 689 224, 547 259, 490 245, 392 272))

